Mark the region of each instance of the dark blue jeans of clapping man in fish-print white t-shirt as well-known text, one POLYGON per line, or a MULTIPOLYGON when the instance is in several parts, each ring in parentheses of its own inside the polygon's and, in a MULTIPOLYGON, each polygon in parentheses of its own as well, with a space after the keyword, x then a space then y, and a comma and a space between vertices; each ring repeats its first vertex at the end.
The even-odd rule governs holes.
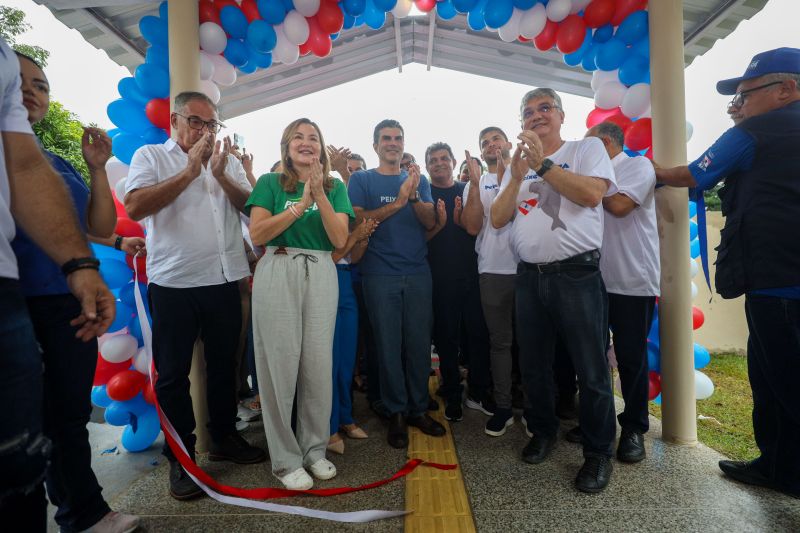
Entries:
POLYGON ((600 271, 540 274, 520 264, 515 299, 519 366, 531 403, 528 429, 539 437, 556 437, 553 360, 560 338, 578 374, 583 454, 610 457, 616 421, 605 350, 608 304, 600 271))

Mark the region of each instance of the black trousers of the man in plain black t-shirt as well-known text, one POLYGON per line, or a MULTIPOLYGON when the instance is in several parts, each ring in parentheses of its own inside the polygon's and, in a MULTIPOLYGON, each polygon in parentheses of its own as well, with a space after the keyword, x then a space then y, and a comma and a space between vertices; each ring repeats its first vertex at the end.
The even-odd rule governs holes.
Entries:
POLYGON ((459 279, 438 275, 433 278, 433 343, 439 352, 442 373, 442 397, 461 400, 461 376, 458 354, 461 344, 461 320, 469 343, 470 395, 481 399, 492 387, 489 363, 489 330, 483 317, 477 276, 459 279))

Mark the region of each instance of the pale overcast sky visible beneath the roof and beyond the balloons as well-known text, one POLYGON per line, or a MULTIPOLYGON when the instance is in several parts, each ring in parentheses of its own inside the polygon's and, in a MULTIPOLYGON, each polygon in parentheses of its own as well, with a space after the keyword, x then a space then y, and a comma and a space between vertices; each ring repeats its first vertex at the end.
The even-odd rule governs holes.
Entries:
MULTIPOLYGON (((46 72, 53 97, 82 121, 111 127, 105 109, 119 98, 117 82, 130 75, 128 71, 32 0, 0 0, 0 4, 20 8, 27 14, 33 29, 19 38, 20 42, 51 52, 46 72)), ((740 76, 758 52, 780 46, 800 47, 798 20, 798 0, 770 0, 760 13, 740 24, 727 39, 717 41, 689 66, 687 118, 694 125, 694 136, 688 145, 690 158, 697 157, 730 126, 725 115, 730 97, 716 93, 716 82, 740 76)), ((533 47, 531 53, 536 53, 533 47)), ((372 129, 388 117, 403 124, 406 150, 418 160, 425 147, 436 141, 449 143, 461 159, 465 148, 473 154, 478 152, 476 137, 485 126, 500 126, 509 135, 518 132, 519 100, 529 88, 443 69, 428 72, 424 65, 406 65, 402 73, 396 69, 383 72, 228 120, 225 131, 245 137, 248 151, 255 154, 257 173, 266 171, 278 159, 283 128, 301 116, 316 121, 328 143, 361 153, 369 166, 377 164, 372 129)), ((563 100, 564 138, 582 137, 593 102, 573 95, 563 95, 563 100)))

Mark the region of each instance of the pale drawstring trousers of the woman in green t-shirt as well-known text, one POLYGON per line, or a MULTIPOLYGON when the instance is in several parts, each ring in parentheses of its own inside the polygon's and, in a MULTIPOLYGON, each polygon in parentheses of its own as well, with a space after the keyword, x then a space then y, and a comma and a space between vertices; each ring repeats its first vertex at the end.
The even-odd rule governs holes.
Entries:
POLYGON ((275 250, 267 248, 253 279, 253 340, 272 472, 285 476, 325 457, 339 285, 330 252, 275 250))

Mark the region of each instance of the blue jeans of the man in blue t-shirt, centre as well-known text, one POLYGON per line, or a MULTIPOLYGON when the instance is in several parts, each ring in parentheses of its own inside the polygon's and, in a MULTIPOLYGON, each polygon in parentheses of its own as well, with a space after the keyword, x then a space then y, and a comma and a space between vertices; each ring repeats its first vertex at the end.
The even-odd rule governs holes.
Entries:
POLYGON ((364 275, 375 332, 381 400, 390 414, 425 414, 431 371, 431 276, 364 275))

